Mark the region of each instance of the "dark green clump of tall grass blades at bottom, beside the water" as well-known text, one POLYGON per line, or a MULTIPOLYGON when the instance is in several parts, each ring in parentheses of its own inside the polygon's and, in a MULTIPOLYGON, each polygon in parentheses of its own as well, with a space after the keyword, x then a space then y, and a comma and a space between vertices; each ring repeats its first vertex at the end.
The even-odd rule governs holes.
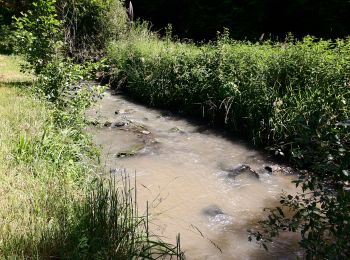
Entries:
POLYGON ((79 220, 70 229, 65 257, 91 259, 183 259, 180 244, 162 242, 148 230, 147 217, 137 211, 136 190, 126 173, 122 179, 97 181, 79 220), (119 187, 118 187, 119 185, 119 187), (73 242, 73 243, 72 243, 73 242))

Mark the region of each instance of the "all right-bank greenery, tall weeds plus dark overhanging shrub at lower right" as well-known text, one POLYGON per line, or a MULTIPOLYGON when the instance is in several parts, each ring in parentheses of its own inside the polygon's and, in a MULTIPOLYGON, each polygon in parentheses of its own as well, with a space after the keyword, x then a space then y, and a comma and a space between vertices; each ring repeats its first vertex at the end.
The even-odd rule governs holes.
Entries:
POLYGON ((195 46, 140 36, 111 44, 108 57, 114 84, 142 102, 202 115, 307 170, 303 192, 281 201, 296 214, 272 210, 264 236, 254 234, 266 242, 298 231, 308 255, 342 257, 350 238, 350 41, 288 38, 253 44, 226 32, 195 46))

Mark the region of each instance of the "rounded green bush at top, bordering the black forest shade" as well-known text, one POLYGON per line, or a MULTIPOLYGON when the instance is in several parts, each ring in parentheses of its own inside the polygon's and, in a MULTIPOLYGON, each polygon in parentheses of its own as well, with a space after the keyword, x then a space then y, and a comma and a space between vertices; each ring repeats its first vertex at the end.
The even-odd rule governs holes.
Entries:
POLYGON ((126 10, 120 0, 57 1, 66 52, 78 61, 101 58, 110 40, 126 32, 126 10))

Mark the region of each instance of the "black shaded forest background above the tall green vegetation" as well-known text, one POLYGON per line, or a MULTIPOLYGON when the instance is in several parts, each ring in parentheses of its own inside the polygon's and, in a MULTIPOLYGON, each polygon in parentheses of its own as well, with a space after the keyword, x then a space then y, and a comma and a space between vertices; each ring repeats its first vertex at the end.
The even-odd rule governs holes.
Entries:
MULTIPOLYGON (((180 38, 209 40, 223 27, 235 39, 350 35, 349 0, 133 0, 137 18, 154 30, 168 23, 180 38)), ((163 32, 163 31, 161 31, 163 32)))

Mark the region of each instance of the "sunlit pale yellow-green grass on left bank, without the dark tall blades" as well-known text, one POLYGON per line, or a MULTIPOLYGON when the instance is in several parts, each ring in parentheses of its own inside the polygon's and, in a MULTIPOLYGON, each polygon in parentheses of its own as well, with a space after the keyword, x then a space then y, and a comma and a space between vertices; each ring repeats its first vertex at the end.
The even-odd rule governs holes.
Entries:
POLYGON ((18 61, 1 56, 0 255, 48 257, 58 248, 52 238, 72 210, 69 201, 82 198, 75 180, 86 169, 71 160, 71 133, 55 129, 48 104, 25 89, 33 83, 19 83, 26 77, 18 61))

